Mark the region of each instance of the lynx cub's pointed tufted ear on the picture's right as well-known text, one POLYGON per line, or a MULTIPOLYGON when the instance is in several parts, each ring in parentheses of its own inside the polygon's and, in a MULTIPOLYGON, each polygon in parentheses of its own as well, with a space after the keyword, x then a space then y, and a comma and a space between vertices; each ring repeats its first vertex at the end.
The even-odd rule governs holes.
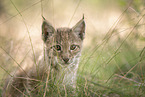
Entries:
POLYGON ((72 31, 78 35, 81 40, 85 37, 85 21, 83 18, 72 28, 72 31))

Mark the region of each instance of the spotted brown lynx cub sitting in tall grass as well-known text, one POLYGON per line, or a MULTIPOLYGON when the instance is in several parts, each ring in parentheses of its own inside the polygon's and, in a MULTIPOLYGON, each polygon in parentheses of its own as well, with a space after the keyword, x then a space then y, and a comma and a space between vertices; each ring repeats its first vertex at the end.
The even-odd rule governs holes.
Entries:
MULTIPOLYGON (((25 72, 18 71, 12 80, 8 79, 3 97, 32 96, 39 92, 42 82, 75 88, 84 34, 84 17, 72 28, 58 29, 44 19, 42 24, 42 39, 45 44, 43 56, 32 68, 26 69, 25 72)), ((49 89, 49 85, 45 86, 49 89)))

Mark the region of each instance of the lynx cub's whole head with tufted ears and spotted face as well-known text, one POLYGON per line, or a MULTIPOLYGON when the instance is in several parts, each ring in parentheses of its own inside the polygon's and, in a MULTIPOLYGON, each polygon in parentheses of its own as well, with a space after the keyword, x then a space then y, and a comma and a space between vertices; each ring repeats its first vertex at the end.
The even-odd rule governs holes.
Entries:
POLYGON ((51 64, 77 64, 85 35, 84 17, 72 28, 55 29, 46 20, 42 24, 42 38, 51 64))

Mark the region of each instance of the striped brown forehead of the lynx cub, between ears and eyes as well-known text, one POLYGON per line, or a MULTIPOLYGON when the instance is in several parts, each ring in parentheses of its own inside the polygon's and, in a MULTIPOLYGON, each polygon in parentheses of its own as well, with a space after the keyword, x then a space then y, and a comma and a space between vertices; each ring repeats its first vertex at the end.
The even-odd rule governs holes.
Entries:
POLYGON ((69 44, 81 42, 81 39, 78 38, 70 28, 58 28, 55 38, 56 42, 59 44, 63 44, 66 42, 69 42, 69 44))

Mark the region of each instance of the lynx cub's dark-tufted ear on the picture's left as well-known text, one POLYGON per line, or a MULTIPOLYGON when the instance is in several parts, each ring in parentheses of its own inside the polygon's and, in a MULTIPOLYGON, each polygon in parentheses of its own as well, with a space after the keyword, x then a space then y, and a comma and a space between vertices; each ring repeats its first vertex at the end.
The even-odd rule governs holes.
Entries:
POLYGON ((42 39, 44 42, 46 42, 46 40, 52 36, 55 32, 55 29, 53 28, 53 26, 48 23, 46 20, 43 21, 42 23, 42 39))

